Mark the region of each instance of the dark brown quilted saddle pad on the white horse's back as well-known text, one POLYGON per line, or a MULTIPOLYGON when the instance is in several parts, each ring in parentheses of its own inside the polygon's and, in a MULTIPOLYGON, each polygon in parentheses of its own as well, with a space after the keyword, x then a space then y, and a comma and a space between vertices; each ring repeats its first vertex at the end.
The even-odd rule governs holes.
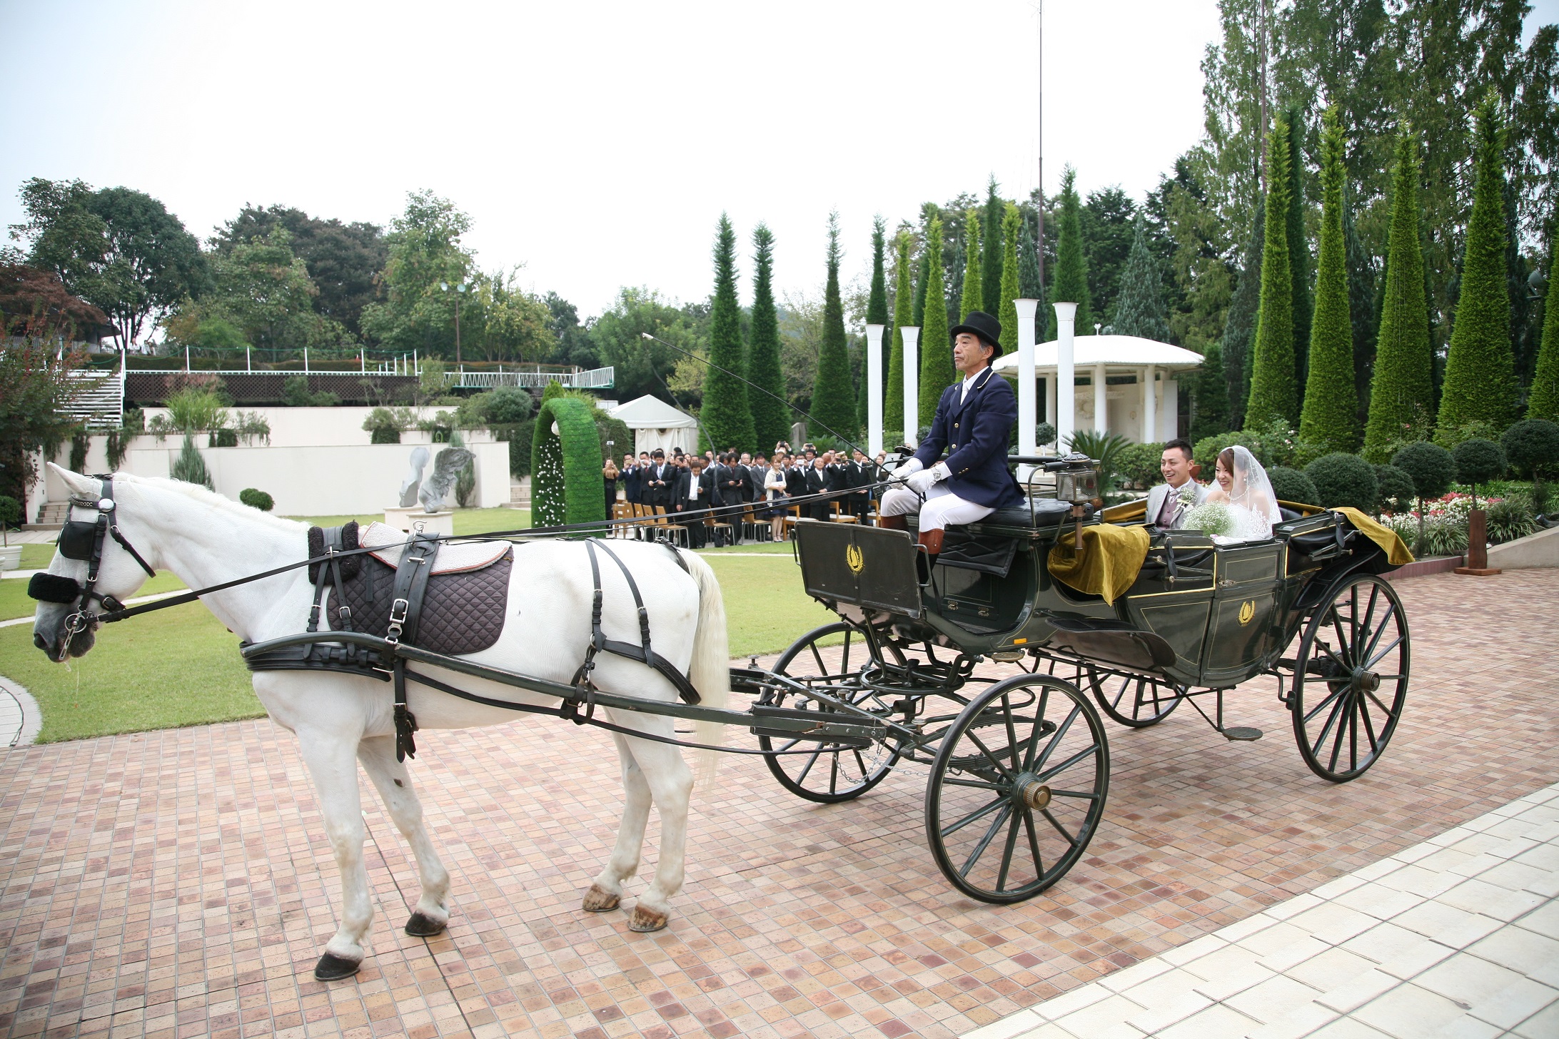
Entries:
MULTIPOLYGON (((443 555, 443 550, 440 550, 443 555)), ((362 569, 341 583, 351 620, 337 614, 335 587, 326 601, 326 615, 335 629, 351 628, 371 636, 390 629, 390 603, 394 600, 394 567, 374 555, 362 556, 362 569)), ((480 570, 441 573, 433 570, 422 595, 422 622, 416 643, 422 650, 461 656, 480 653, 497 642, 508 612, 508 575, 514 565, 514 548, 480 570)))

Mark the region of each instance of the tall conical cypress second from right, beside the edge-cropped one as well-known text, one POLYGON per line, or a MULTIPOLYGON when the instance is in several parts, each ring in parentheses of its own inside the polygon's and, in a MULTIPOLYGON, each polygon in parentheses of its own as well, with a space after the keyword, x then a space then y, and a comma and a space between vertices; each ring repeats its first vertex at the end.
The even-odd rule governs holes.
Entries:
POLYGON ((1504 131, 1490 95, 1478 106, 1478 181, 1467 218, 1461 294, 1445 355, 1437 425, 1450 433, 1469 422, 1503 431, 1515 421, 1515 355, 1511 352, 1511 296, 1506 288, 1504 131))

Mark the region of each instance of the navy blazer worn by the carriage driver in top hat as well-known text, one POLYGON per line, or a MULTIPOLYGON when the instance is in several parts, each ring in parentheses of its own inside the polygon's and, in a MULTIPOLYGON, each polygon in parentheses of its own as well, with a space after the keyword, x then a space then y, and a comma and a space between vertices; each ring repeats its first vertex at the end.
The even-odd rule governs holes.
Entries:
POLYGON ((945 480, 948 491, 993 509, 1020 505, 1023 492, 1007 469, 1007 441, 1018 421, 1018 394, 990 368, 976 375, 967 400, 960 400, 962 394, 963 380, 942 391, 937 417, 915 458, 931 469, 946 449, 951 472, 945 480))

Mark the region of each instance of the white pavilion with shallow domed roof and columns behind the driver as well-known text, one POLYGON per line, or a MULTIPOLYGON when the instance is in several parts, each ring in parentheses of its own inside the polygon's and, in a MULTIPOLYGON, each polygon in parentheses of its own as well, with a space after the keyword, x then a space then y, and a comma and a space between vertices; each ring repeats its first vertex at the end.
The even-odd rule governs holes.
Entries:
MULTIPOLYGON (((1034 374, 1045 383, 1045 410, 1035 416, 1037 422, 1049 422, 1062 438, 1068 427, 1118 433, 1138 444, 1161 442, 1179 435, 1177 377, 1200 368, 1200 354, 1135 335, 1074 336, 1073 407, 1071 414, 1065 416, 1059 413, 1059 405, 1065 402, 1057 400, 1059 352, 1060 343, 1055 340, 1034 347, 1034 374)), ((993 368, 1004 375, 1016 375, 1018 352, 1002 354, 993 368)))

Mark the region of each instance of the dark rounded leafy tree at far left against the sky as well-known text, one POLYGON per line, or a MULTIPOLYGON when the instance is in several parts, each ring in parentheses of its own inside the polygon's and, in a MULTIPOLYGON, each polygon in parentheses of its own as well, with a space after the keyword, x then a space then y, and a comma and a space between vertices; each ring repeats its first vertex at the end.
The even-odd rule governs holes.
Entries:
POLYGON ((27 223, 11 237, 28 243, 28 263, 108 315, 122 344, 206 288, 200 241, 145 192, 33 178, 22 206, 27 223))

